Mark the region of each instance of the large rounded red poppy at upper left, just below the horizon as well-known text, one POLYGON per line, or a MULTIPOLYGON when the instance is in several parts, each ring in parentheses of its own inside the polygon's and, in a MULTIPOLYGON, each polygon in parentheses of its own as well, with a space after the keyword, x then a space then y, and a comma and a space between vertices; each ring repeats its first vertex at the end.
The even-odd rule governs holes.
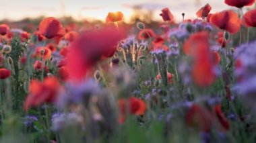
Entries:
POLYGON ((47 17, 42 19, 39 24, 38 31, 48 39, 59 39, 65 34, 65 29, 61 25, 61 22, 54 17, 47 17))

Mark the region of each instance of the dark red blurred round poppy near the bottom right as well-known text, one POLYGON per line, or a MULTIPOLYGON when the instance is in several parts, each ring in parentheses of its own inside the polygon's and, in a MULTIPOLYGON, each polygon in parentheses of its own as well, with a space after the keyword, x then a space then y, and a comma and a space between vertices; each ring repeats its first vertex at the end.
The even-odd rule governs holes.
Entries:
POLYGON ((210 132, 214 124, 214 115, 208 109, 194 104, 187 112, 186 121, 189 126, 196 126, 203 132, 210 132))

